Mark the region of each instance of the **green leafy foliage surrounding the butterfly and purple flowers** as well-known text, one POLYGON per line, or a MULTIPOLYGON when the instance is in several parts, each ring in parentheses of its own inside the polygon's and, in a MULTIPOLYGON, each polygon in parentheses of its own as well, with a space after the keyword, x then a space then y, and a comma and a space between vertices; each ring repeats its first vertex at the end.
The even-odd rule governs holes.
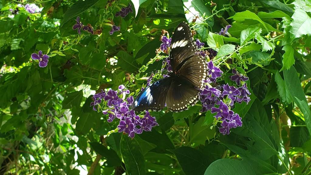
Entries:
MULTIPOLYGON (((116 1, 107 11, 106 0, 0 0, 1 174, 310 174, 310 0, 135 2, 137 17, 134 9, 114 17, 121 30, 109 35, 104 20, 112 20, 118 3, 132 2, 116 1), (20 7, 12 15, 19 3, 42 11, 20 7), (78 35, 72 30, 78 15, 102 33, 78 35), (136 75, 155 57, 161 30, 171 33, 196 15, 208 18, 195 37, 209 47, 243 46, 229 50, 221 65, 226 83, 228 67, 249 77, 251 102, 234 108, 243 126, 220 135, 211 129, 211 113, 193 106, 151 112, 160 126, 133 140, 100 137, 117 123, 92 111, 91 94, 136 75), (228 24, 231 37, 214 34, 228 24), (30 58, 39 50, 49 51, 46 68, 30 58)), ((144 73, 161 65, 155 61, 144 73)), ((146 83, 139 78, 132 91, 146 83)))

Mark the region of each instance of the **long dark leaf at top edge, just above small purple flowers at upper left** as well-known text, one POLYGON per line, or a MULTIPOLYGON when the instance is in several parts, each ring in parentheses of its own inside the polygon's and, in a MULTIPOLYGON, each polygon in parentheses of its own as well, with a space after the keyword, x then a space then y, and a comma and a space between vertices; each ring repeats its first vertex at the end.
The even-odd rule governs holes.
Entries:
MULTIPOLYGON (((93 5, 95 5, 99 0, 79 0, 76 3, 74 3, 69 9, 65 12, 64 18, 62 21, 61 27, 69 21, 71 18, 78 16, 79 14, 83 13, 87 9, 91 8, 93 5)), ((72 21, 72 23, 76 23, 72 21)))

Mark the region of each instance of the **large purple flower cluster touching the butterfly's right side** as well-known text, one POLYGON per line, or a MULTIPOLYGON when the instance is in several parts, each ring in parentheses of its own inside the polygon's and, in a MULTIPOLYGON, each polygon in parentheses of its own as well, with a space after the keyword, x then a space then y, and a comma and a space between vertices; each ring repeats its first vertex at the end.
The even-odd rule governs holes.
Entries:
MULTIPOLYGON (((241 117, 231 111, 230 108, 233 107, 234 102, 248 103, 250 93, 244 82, 243 86, 239 88, 229 86, 228 83, 217 88, 211 87, 209 83, 216 83, 216 78, 221 77, 223 72, 215 67, 211 61, 207 63, 207 67, 209 78, 206 80, 207 85, 200 92, 201 112, 211 110, 211 113, 216 113, 214 117, 222 122, 219 131, 226 135, 230 133, 231 128, 242 126, 241 117)), ((234 75, 231 76, 233 81, 239 80, 241 82, 241 80, 246 81, 247 79, 247 77, 238 74, 235 70, 234 75)))

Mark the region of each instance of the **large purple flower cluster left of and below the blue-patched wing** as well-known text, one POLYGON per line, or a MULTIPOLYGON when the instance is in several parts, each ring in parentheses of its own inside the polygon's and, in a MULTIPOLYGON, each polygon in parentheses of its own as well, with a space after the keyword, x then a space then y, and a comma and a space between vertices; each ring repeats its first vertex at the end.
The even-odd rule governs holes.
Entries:
POLYGON ((128 97, 126 100, 123 100, 119 96, 125 97, 126 94, 129 94, 129 90, 120 85, 118 91, 109 90, 108 92, 101 92, 93 96, 94 102, 91 102, 93 110, 96 110, 96 106, 100 105, 102 101, 106 104, 103 114, 108 114, 108 122, 114 121, 115 118, 119 119, 118 131, 127 133, 129 137, 133 138, 136 134, 141 134, 143 130, 151 131, 151 128, 159 125, 156 122, 156 118, 150 116, 149 112, 146 111, 144 117, 140 117, 135 114, 135 111, 130 109, 130 106, 134 102, 132 96, 128 97))

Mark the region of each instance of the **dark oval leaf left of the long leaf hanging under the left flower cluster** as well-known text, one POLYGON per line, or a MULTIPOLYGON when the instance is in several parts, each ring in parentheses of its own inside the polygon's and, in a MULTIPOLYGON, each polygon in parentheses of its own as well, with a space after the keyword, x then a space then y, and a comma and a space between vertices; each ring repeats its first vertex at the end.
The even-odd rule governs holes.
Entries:
POLYGON ((107 149, 107 147, 98 142, 91 142, 90 145, 94 151, 96 151, 96 153, 107 159, 107 161, 104 163, 105 167, 115 167, 122 165, 121 159, 113 149, 107 149))

